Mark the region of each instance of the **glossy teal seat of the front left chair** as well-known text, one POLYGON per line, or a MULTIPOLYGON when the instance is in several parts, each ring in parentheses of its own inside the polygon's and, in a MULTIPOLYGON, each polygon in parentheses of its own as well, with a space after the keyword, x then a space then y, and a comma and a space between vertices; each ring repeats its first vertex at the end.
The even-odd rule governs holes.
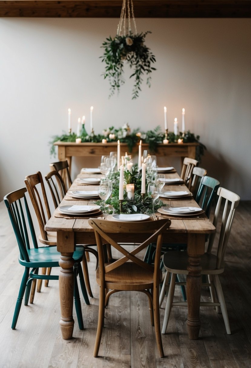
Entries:
MULTIPOLYGON (((73 253, 73 259, 75 262, 81 262, 84 253, 84 247, 77 245, 76 250, 73 253)), ((39 247, 27 250, 30 262, 26 262, 23 259, 18 259, 19 263, 26 267, 40 267, 43 263, 43 267, 58 267, 60 260, 60 253, 56 247, 39 247)))

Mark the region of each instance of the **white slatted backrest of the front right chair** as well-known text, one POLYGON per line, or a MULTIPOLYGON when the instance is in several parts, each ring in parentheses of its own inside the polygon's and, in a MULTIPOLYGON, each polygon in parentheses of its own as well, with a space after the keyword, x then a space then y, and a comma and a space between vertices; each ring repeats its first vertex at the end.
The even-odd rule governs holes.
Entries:
MULTIPOLYGON (((240 202, 240 197, 237 194, 230 192, 229 190, 222 187, 218 188, 217 194, 219 195, 219 199, 215 209, 213 225, 216 227, 216 232, 219 233, 219 229, 217 229, 217 224, 220 223, 220 215, 221 215, 222 217, 220 223, 220 234, 217 248, 217 265, 216 265, 216 268, 219 269, 224 266, 226 246, 229 240, 231 227, 233 224, 234 212, 240 202)), ((216 233, 213 233, 209 238, 207 250, 208 253, 212 252, 215 235, 216 233)))

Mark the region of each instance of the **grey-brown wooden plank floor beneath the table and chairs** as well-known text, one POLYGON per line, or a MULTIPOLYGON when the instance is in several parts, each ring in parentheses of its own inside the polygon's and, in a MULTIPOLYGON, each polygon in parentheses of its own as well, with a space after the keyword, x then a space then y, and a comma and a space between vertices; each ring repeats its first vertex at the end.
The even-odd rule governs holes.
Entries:
MULTIPOLYGON (((33 305, 22 305, 17 329, 11 329, 23 268, 7 210, 0 203, 0 367, 1 368, 173 368, 251 366, 251 202, 241 202, 236 212, 225 273, 221 276, 232 335, 227 335, 222 315, 214 308, 201 308, 198 340, 188 339, 187 309, 172 309, 168 333, 162 335, 165 358, 158 356, 148 301, 144 294, 117 293, 105 314, 99 357, 93 358, 98 316, 98 286, 95 259, 88 263, 94 298, 82 298, 84 331, 74 327, 74 338, 63 340, 59 328, 57 281, 35 294, 33 305)), ((178 288, 176 288, 178 289, 178 288)), ((177 290, 175 298, 181 296, 177 290)), ((209 291, 202 292, 204 301, 209 291)), ((161 323, 165 301, 160 309, 161 323)), ((75 321, 75 311, 74 311, 75 321)))

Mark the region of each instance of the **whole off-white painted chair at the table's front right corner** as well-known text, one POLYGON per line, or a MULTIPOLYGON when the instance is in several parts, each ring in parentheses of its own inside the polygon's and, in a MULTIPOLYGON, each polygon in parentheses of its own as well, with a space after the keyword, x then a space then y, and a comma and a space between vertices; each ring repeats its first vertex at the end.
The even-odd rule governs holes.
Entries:
MULTIPOLYGON (((201 275, 208 276, 208 283, 202 283, 202 286, 210 287, 212 302, 201 302, 201 306, 216 307, 218 312, 221 309, 226 332, 227 334, 231 334, 225 299, 223 296, 219 275, 224 272, 224 257, 226 253, 226 246, 233 224, 234 212, 239 204, 240 197, 237 194, 221 187, 218 189, 217 194, 219 195, 219 199, 215 209, 213 225, 216 227, 216 231, 219 232, 219 241, 218 244, 216 244, 217 247, 215 254, 213 254, 212 250, 216 233, 211 234, 209 238, 208 249, 206 253, 201 256, 200 261, 202 267, 201 275), (222 215, 220 215, 221 213, 222 215), (219 224, 218 227, 217 224, 219 224), (218 296, 218 300, 216 299, 215 291, 218 296)), ((177 284, 185 284, 176 283, 176 275, 188 275, 188 255, 186 252, 168 252, 164 255, 163 262, 167 271, 165 280, 163 282, 163 287, 165 287, 166 280, 169 280, 171 276, 170 286, 167 295, 164 323, 162 328, 162 333, 166 333, 167 323, 169 321, 172 306, 187 306, 187 302, 173 302, 173 296, 175 286, 177 284)))

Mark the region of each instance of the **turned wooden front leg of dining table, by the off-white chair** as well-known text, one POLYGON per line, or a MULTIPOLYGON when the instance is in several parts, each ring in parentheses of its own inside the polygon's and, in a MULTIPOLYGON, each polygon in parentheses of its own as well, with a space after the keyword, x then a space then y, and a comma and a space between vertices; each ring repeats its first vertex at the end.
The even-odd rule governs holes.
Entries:
POLYGON ((200 256, 205 252, 205 234, 188 234, 188 275, 187 275, 187 329, 192 340, 198 339, 201 322, 199 305, 201 300, 200 256))

